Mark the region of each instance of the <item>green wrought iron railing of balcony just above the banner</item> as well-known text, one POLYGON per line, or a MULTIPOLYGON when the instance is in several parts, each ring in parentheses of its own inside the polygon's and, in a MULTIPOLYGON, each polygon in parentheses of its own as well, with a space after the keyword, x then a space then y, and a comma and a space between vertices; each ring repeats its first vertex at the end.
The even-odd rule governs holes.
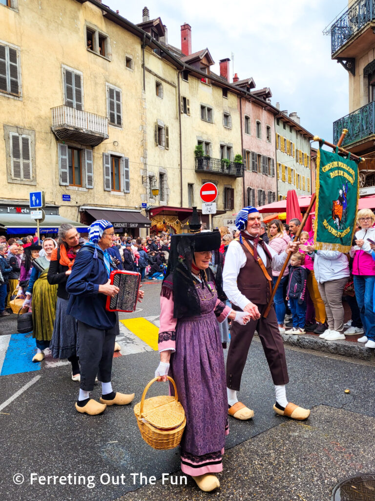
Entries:
POLYGON ((375 134, 375 101, 333 122, 333 143, 337 144, 342 129, 347 129, 342 145, 365 139, 375 134))

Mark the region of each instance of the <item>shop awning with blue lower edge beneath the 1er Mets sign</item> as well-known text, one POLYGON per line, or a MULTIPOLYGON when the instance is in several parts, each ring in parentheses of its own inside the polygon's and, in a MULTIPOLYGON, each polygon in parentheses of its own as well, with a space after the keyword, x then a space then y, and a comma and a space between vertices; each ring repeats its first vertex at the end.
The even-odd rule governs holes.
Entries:
MULTIPOLYGON (((59 215, 46 214, 44 221, 39 222, 40 233, 57 233, 63 223, 72 224, 81 233, 87 233, 87 226, 59 215)), ((36 231, 36 221, 30 214, 0 214, 0 229, 8 235, 28 235, 36 231)))

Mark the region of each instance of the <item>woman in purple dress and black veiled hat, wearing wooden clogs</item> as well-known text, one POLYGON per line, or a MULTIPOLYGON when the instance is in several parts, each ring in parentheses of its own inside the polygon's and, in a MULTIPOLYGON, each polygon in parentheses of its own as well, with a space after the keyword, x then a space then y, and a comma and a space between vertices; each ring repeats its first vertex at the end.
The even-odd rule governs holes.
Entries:
MULTIPOLYGON (((211 251, 220 246, 219 232, 172 235, 166 277, 160 294, 158 348, 155 376, 176 383, 186 415, 181 440, 181 470, 198 487, 219 487, 214 473, 222 470, 224 439, 228 434, 224 357, 217 322, 227 317, 248 322, 217 299, 208 268, 211 251)), ((173 388, 170 386, 171 393, 173 388)))

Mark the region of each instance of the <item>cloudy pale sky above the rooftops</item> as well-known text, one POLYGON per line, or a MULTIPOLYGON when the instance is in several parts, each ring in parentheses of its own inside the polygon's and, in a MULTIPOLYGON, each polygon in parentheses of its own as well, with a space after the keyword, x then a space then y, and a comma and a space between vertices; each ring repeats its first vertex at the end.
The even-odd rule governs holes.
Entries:
MULTIPOLYGON (((180 25, 191 26, 192 52, 208 47, 218 61, 234 54, 234 72, 269 87, 272 104, 296 111, 313 135, 332 141, 332 122, 348 113, 348 76, 330 59, 323 29, 346 9, 345 0, 103 0, 134 24, 146 5, 160 17, 168 42, 180 47, 180 25)), ((232 66, 230 67, 232 73, 232 66)), ((315 143, 316 146, 316 143, 315 143)))

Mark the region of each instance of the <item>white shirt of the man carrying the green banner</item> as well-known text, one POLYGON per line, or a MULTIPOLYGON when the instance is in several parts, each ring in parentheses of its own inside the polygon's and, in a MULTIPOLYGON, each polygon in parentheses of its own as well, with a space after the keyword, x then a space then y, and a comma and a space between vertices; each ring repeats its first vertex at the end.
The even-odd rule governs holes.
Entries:
MULTIPOLYGON (((250 243, 250 245, 252 245, 252 240, 247 241, 250 243)), ((280 271, 283 264, 285 263, 287 254, 285 252, 282 252, 278 255, 269 245, 265 245, 272 258, 272 270, 274 270, 275 272, 280 271)), ((256 251, 259 258, 264 263, 264 266, 266 266, 266 255, 259 243, 256 246, 256 251)), ((245 266, 245 264, 246 255, 244 253, 244 250, 242 249, 242 245, 238 240, 231 241, 225 254, 225 263, 222 272, 223 289, 229 301, 241 308, 241 310, 244 310, 245 306, 250 302, 246 298, 246 296, 239 292, 237 287, 237 277, 239 271, 245 266)))

